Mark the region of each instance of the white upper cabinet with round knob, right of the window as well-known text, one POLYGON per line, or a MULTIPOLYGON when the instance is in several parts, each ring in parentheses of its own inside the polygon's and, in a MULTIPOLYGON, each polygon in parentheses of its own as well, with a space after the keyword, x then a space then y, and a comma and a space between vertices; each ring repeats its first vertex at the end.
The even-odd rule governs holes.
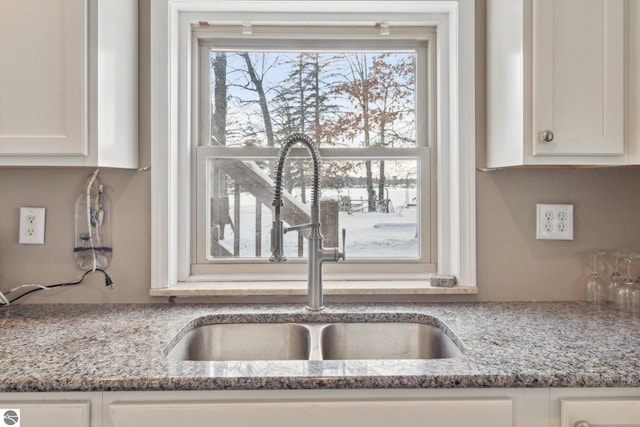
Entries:
POLYGON ((487 166, 619 165, 624 0, 487 1, 487 166))

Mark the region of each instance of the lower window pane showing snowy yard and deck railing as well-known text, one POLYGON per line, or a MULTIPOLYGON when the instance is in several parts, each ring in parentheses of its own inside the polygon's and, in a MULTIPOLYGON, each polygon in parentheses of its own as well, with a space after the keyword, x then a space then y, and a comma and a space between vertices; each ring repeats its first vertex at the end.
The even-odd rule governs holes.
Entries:
MULTIPOLYGON (((207 258, 268 258, 274 161, 208 161, 210 225, 207 258)), ((324 160, 321 221, 325 246, 338 245, 347 229, 349 259, 417 259, 420 255, 417 160, 324 160), (382 178, 381 178, 382 177, 382 178)), ((287 225, 309 222, 311 167, 289 159, 282 209, 287 225)), ((302 232, 285 234, 285 253, 306 256, 302 232)))

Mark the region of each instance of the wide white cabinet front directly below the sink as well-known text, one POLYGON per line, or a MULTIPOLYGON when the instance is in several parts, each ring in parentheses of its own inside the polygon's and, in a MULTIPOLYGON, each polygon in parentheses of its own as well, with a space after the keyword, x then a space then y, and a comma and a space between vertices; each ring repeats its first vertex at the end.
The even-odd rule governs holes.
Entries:
POLYGON ((113 427, 537 427, 548 390, 105 393, 113 427))

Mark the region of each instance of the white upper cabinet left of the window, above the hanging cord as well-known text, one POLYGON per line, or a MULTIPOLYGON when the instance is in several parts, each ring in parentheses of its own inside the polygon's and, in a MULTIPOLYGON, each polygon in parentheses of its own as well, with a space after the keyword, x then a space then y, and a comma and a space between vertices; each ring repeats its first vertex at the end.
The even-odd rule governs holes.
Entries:
POLYGON ((136 0, 0 1, 0 166, 138 164, 136 0))

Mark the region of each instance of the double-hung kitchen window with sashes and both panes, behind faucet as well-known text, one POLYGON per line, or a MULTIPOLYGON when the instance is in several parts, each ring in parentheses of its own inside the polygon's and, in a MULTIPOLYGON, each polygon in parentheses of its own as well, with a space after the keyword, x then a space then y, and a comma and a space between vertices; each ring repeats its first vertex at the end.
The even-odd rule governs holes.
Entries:
MULTIPOLYGON (((199 24, 196 256, 192 274, 291 272, 306 260, 287 233, 289 264, 269 264, 270 178, 279 142, 309 135, 323 160, 327 246, 347 231, 342 277, 382 265, 388 277, 435 272, 434 29, 199 24), (326 34, 332 40, 326 40, 326 34), (292 42, 292 41, 295 41, 292 42), (434 236, 432 238, 432 236, 434 236)), ((308 154, 285 168, 285 221, 309 222, 308 154)))

